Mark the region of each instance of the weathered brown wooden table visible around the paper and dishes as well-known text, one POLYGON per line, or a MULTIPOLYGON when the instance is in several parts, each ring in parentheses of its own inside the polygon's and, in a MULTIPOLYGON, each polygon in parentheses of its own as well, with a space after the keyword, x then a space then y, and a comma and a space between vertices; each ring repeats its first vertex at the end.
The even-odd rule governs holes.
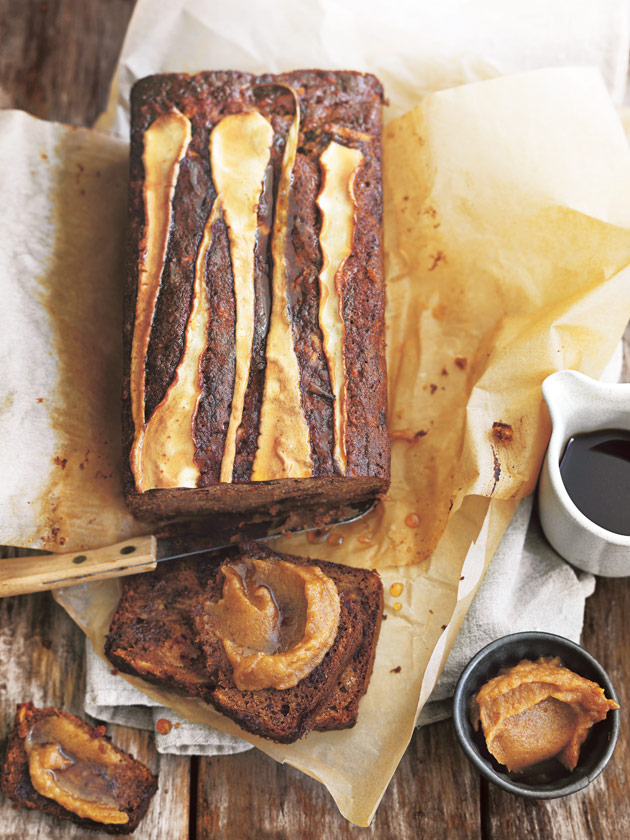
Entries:
MULTIPOLYGON (((165 0, 166 1, 166 0, 165 0)), ((0 107, 90 125, 103 109, 134 0, 0 0, 0 107)), ((630 380, 630 340, 625 342, 630 380)), ((583 645, 609 671, 628 708, 630 580, 599 580, 587 602, 583 645)), ((0 746, 15 704, 82 713, 84 640, 49 594, 0 601, 0 746)), ((237 756, 160 756, 153 736, 109 727, 153 770, 160 790, 135 837, 379 840, 587 840, 630 837, 630 751, 621 737, 606 772, 575 796, 530 802, 488 786, 461 753, 450 721, 417 732, 368 829, 347 823, 326 790, 256 750, 237 756)), ((86 832, 16 811, 0 795, 0 836, 78 838, 86 832)), ((92 833, 89 836, 95 836, 92 833)), ((105 836, 105 835, 100 835, 105 836)))

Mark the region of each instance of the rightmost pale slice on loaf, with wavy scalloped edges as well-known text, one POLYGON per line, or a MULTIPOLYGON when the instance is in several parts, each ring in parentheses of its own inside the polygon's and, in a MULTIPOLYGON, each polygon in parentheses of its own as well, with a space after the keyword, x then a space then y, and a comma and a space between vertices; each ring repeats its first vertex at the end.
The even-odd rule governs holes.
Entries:
POLYGON ((354 234, 354 180, 363 155, 334 141, 320 157, 322 188, 317 205, 322 211, 319 243, 323 264, 319 274, 319 325, 328 361, 334 402, 334 458, 342 475, 346 473, 346 370, 341 271, 352 252, 354 234))

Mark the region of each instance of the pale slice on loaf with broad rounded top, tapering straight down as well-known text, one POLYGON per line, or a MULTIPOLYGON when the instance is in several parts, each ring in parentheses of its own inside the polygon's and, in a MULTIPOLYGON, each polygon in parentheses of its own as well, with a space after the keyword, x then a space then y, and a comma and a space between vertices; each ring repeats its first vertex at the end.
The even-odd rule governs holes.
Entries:
POLYGON ((254 338, 254 251, 258 204, 271 156, 273 128, 250 111, 225 117, 210 137, 212 178, 223 207, 230 240, 236 301, 236 372, 220 481, 231 482, 236 433, 243 417, 254 338))

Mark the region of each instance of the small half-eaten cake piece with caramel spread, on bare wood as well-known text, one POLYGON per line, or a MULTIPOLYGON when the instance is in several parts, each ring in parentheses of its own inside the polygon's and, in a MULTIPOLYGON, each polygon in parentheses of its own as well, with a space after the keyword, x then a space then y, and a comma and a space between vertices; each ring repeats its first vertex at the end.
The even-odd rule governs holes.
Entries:
POLYGON ((17 708, 1 777, 20 806, 83 828, 131 834, 157 790, 157 777, 105 736, 62 709, 17 708))

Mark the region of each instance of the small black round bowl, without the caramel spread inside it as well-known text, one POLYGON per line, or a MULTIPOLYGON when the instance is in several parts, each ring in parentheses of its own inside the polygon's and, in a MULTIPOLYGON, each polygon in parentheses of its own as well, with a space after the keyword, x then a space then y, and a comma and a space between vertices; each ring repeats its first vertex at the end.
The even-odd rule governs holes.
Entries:
POLYGON ((598 683, 606 697, 619 702, 606 671, 575 642, 553 633, 514 633, 491 642, 464 668, 453 696, 453 722, 466 757, 489 781, 529 799, 556 799, 585 788, 608 764, 619 735, 619 710, 608 712, 603 721, 591 728, 572 772, 551 759, 538 765, 535 772, 510 773, 488 752, 481 727, 475 732, 470 723, 470 700, 488 680, 521 659, 536 660, 541 656, 558 656, 563 665, 598 683))

